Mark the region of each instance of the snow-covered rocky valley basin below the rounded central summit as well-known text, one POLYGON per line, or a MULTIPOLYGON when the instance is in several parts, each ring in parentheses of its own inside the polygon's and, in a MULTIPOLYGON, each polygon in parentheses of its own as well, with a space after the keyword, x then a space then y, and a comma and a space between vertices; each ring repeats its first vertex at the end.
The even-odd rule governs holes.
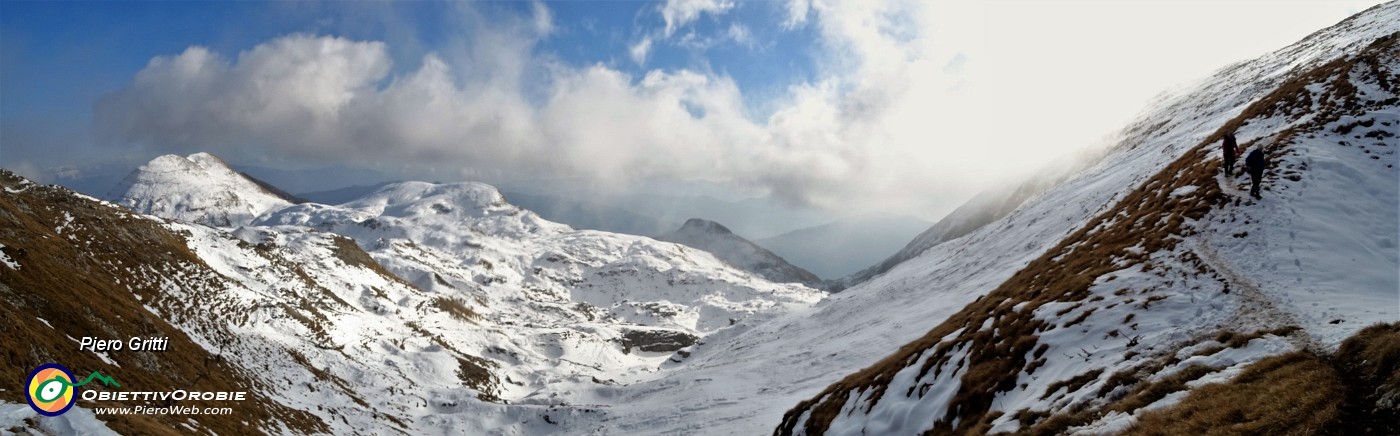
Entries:
MULTIPOLYGON (((419 328, 448 349, 484 359, 480 366, 491 381, 476 386, 482 398, 510 404, 578 404, 580 391, 652 379, 661 366, 683 362, 687 349, 708 335, 806 307, 822 296, 762 280, 704 251, 550 223, 505 203, 494 188, 470 182, 399 182, 340 206, 295 205, 239 236, 276 241, 308 229, 354 238, 388 272, 424 293, 423 303, 391 294, 395 306, 461 306, 473 314, 472 322, 444 320, 419 328)), ((357 296, 343 299, 350 297, 357 296)), ((361 310, 375 313, 377 304, 361 310)), ((337 324, 363 334, 374 325, 337 324)), ((384 387, 393 383, 388 379, 384 387)))

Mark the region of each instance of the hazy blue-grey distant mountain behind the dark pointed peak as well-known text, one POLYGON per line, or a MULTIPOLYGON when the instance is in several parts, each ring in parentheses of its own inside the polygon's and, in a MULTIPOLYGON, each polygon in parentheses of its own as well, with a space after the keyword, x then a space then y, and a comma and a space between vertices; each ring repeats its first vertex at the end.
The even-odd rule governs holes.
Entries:
POLYGON ((911 216, 872 213, 753 241, 823 279, 875 265, 928 229, 911 216))

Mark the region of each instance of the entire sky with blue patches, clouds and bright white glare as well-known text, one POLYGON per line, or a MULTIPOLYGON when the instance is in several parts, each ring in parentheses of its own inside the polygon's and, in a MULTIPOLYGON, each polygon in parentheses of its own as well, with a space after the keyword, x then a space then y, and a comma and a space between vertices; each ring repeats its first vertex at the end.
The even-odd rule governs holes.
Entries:
POLYGON ((0 165, 211 151, 937 219, 1375 3, 0 1, 0 165))

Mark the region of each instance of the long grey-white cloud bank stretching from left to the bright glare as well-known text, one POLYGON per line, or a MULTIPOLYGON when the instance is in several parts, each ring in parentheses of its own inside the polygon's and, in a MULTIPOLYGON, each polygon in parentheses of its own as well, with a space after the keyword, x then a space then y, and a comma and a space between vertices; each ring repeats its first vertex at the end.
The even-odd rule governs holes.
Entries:
MULTIPOLYGON (((728 77, 630 77, 532 55, 529 22, 473 35, 451 50, 461 59, 428 55, 402 76, 389 74, 379 42, 291 35, 235 59, 196 46, 151 60, 98 104, 97 119, 112 139, 161 150, 612 185, 706 179, 829 207, 952 207, 966 189, 949 186, 974 184, 979 167, 966 158, 973 142, 942 142, 977 133, 967 133, 974 98, 946 91, 951 55, 888 32, 886 8, 825 7, 816 17, 840 66, 794 86, 767 119, 745 115, 728 77), (521 79, 531 74, 545 77, 521 79)), ((647 41, 631 48, 634 60, 647 41)))

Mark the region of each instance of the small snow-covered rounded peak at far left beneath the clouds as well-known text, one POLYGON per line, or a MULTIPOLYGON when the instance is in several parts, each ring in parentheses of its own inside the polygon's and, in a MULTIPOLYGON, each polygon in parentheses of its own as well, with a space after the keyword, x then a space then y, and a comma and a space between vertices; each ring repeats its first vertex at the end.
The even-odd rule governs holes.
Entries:
POLYGON ((157 157, 122 179, 112 196, 140 213, 216 227, 246 224, 290 205, 209 153, 157 157))

